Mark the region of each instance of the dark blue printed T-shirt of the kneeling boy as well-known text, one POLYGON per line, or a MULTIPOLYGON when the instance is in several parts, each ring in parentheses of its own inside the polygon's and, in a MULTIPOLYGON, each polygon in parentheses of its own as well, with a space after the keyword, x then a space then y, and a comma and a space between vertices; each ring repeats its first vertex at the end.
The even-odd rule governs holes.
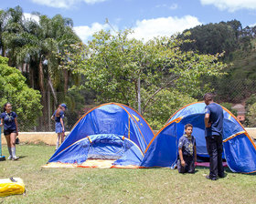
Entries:
POLYGON ((196 146, 196 139, 193 136, 188 138, 187 135, 183 135, 178 140, 178 148, 182 148, 183 155, 193 156, 194 146, 196 146))

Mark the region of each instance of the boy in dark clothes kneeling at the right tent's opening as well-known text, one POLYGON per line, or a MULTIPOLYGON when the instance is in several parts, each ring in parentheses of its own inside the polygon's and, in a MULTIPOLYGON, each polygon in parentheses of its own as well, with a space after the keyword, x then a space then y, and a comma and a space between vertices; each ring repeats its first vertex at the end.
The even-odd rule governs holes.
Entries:
POLYGON ((185 135, 178 140, 177 169, 179 173, 195 173, 197 162, 196 139, 192 136, 193 126, 185 126, 185 135))

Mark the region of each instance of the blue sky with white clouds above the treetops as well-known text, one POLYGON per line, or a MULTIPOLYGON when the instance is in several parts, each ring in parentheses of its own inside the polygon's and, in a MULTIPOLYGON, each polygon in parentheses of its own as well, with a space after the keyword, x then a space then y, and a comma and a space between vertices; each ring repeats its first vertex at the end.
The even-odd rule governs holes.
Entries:
POLYGON ((256 25, 256 0, 0 0, 0 8, 20 5, 52 17, 60 14, 74 22, 74 30, 87 42, 108 18, 116 30, 132 28, 133 36, 145 40, 171 36, 184 29, 237 19, 242 26, 256 25))

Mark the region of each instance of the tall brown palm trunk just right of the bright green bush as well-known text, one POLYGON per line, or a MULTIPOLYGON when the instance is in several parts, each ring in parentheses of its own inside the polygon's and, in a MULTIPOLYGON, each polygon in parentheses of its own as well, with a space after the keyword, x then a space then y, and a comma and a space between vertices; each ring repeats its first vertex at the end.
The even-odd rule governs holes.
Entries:
POLYGON ((43 129, 45 129, 48 125, 47 123, 47 117, 48 117, 48 106, 47 106, 47 98, 46 98, 46 88, 44 84, 44 70, 43 70, 43 63, 42 63, 42 57, 40 57, 39 61, 39 87, 40 92, 42 95, 42 105, 43 105, 43 117, 42 117, 42 125, 43 129))

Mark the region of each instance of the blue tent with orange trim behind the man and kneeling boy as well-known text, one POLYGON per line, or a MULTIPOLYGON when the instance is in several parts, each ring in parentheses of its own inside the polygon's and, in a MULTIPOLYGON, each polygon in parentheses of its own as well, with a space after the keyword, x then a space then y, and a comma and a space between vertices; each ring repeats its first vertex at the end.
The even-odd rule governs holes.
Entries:
MULTIPOLYGON (((193 125, 197 141, 197 155, 208 157, 205 141, 205 103, 198 102, 182 107, 170 117, 165 127, 159 130, 145 150, 142 167, 169 167, 176 164, 177 141, 184 134, 187 123, 193 125)), ((256 146, 240 122, 228 109, 223 108, 224 158, 233 172, 256 171, 256 146)))

